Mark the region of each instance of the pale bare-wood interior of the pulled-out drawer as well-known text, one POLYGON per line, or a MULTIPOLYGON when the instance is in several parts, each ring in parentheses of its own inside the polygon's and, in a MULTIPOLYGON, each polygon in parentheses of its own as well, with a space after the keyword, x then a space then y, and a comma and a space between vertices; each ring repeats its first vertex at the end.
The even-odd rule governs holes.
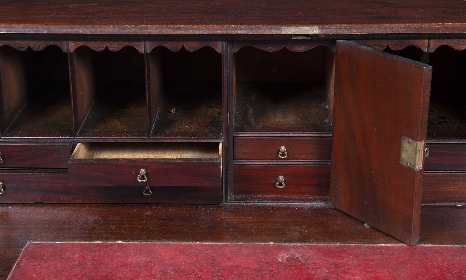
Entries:
POLYGON ((72 159, 219 159, 222 143, 78 143, 72 159))

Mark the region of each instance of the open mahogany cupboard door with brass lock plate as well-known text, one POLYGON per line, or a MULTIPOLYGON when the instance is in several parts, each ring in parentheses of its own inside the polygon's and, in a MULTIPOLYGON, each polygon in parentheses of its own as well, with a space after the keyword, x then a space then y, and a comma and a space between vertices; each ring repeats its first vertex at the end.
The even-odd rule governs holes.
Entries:
POLYGON ((337 41, 335 71, 330 204, 414 245, 432 67, 337 41))

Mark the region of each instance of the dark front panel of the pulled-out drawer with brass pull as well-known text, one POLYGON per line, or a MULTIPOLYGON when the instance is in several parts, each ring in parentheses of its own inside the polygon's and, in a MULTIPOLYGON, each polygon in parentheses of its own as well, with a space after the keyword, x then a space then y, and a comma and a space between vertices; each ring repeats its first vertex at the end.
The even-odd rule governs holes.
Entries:
MULTIPOLYGON (((75 186, 216 186, 221 188, 220 161, 202 160, 70 160, 75 186), (141 169, 147 181, 139 182, 141 169)), ((141 177, 141 180, 145 179, 141 177)))

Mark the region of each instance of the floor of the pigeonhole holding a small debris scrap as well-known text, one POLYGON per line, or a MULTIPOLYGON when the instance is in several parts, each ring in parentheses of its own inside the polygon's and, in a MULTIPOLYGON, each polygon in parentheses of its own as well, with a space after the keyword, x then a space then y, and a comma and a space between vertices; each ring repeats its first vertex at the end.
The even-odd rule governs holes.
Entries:
POLYGON ((222 137, 220 82, 172 82, 164 91, 151 137, 222 137))

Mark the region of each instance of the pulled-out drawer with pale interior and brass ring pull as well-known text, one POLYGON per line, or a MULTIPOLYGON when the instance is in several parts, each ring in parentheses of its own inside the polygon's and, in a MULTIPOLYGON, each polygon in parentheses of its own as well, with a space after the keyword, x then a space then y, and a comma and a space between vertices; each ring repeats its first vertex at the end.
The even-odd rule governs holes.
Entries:
POLYGON ((221 186, 222 143, 78 143, 70 185, 221 186))

